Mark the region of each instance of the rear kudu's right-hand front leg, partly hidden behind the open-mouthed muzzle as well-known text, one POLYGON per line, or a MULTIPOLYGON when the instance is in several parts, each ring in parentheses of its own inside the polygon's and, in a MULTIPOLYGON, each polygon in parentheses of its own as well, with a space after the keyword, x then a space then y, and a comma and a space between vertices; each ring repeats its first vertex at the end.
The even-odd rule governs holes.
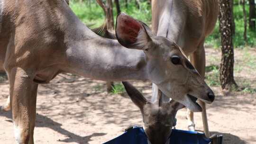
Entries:
MULTIPOLYGON (((204 50, 204 42, 199 45, 198 49, 191 55, 191 62, 196 68, 196 70, 200 73, 200 75, 204 78, 205 76, 205 50, 204 50)), ((210 137, 206 106, 205 103, 199 101, 200 106, 202 107, 202 121, 203 121, 203 129, 204 133, 207 137, 210 137)), ((193 116, 193 115, 191 115, 193 116)), ((192 119, 192 118, 191 118, 192 119)))

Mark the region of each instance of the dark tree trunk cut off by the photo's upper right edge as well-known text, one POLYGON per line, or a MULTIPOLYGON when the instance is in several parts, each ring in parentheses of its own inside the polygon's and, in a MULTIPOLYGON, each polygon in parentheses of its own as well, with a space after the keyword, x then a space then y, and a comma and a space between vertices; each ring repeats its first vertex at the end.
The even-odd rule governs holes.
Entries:
POLYGON ((255 30, 255 20, 256 20, 256 12, 255 12, 255 1, 249 0, 249 28, 251 30, 255 30))

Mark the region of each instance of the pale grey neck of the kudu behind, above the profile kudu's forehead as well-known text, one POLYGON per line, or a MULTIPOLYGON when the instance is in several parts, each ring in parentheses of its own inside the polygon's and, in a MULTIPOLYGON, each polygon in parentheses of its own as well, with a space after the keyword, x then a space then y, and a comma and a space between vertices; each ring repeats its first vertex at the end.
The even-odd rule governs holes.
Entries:
POLYGON ((183 45, 186 19, 186 14, 180 9, 182 5, 183 1, 180 0, 154 0, 152 5, 153 33, 169 38, 179 46, 183 45))

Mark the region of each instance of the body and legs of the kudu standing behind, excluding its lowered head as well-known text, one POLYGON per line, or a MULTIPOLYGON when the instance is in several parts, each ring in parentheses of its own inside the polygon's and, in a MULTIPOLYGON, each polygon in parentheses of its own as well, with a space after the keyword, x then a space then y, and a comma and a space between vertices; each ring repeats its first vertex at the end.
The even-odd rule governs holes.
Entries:
MULTIPOLYGON (((218 0, 152 0, 152 31, 177 43, 184 54, 204 78, 204 40, 213 30, 219 14, 218 0)), ((158 94, 153 84, 154 95, 158 94)), ((160 89, 161 90, 161 89, 160 89)), ((209 135, 205 103, 203 109, 204 132, 209 135)), ((189 129, 194 130, 193 112, 188 111, 189 129)))

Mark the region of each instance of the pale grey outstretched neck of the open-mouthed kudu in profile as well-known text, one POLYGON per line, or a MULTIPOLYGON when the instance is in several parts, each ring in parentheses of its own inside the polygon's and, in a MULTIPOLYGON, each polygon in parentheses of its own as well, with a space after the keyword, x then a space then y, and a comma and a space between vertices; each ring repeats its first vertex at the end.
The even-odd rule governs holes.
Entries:
POLYGON ((103 81, 146 80, 146 54, 128 49, 117 40, 96 35, 80 20, 73 28, 66 50, 68 67, 73 72, 103 81))

